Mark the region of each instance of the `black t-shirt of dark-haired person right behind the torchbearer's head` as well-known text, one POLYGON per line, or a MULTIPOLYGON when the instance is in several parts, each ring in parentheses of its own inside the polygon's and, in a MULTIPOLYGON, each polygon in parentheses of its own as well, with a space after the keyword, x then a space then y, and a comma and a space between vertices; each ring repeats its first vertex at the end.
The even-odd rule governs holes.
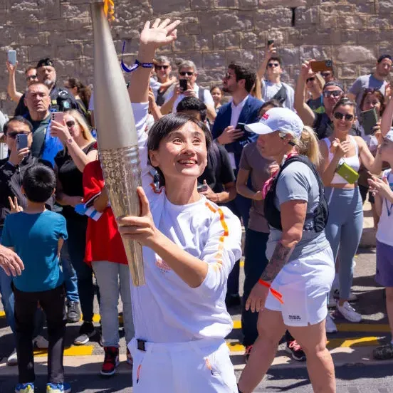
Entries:
POLYGON ((234 182, 236 178, 225 147, 213 143, 215 146, 212 146, 209 150, 207 165, 204 173, 198 177, 198 183, 203 184, 206 180, 206 183, 214 192, 223 192, 224 184, 234 182))

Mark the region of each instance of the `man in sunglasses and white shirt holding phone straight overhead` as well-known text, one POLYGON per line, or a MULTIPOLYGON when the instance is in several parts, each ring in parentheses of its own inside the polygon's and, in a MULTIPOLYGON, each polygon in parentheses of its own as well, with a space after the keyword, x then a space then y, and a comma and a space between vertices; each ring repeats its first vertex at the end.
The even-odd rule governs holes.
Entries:
POLYGON ((257 72, 258 78, 261 79, 262 98, 264 101, 278 100, 284 108, 293 110, 295 92, 290 85, 281 82, 282 73, 283 61, 277 56, 276 48, 272 43, 266 49, 265 58, 257 72))

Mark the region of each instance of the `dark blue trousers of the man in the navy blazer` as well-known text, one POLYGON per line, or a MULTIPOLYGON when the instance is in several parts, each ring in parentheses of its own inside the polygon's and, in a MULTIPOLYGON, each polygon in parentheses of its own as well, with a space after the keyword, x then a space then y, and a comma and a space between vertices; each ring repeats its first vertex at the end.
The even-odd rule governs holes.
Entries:
MULTIPOLYGON (((243 221, 244 229, 247 230, 248 218, 251 208, 251 199, 245 198, 244 196, 237 194, 233 201, 226 204, 232 213, 243 221)), ((234 268, 228 276, 227 282, 227 293, 229 295, 239 295, 239 274, 240 274, 240 261, 236 261, 234 268)))

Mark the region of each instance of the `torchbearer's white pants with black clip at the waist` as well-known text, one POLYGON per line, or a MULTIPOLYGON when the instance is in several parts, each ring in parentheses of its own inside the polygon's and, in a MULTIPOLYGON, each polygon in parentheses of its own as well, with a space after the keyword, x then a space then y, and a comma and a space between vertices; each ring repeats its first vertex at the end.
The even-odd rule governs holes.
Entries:
POLYGON ((133 338, 135 393, 237 393, 234 366, 224 339, 155 344, 143 352, 133 338))

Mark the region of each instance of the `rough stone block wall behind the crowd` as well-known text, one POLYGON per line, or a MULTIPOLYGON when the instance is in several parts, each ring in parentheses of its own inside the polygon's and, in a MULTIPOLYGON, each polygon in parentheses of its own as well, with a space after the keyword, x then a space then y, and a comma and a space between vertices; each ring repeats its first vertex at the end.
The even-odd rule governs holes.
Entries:
MULTIPOLYGON (((43 57, 56 61, 58 80, 77 76, 93 81, 89 0, 0 0, 0 108, 11 112, 6 96, 6 51, 16 49, 17 86, 23 68, 43 57)), ((285 79, 296 79, 301 61, 332 58, 338 78, 349 84, 368 73, 382 53, 393 53, 393 0, 115 0, 112 33, 117 52, 126 41, 133 62, 138 31, 154 16, 181 18, 178 40, 163 52, 191 59, 199 82, 221 80, 232 60, 257 66, 268 38, 285 63, 285 79)))

